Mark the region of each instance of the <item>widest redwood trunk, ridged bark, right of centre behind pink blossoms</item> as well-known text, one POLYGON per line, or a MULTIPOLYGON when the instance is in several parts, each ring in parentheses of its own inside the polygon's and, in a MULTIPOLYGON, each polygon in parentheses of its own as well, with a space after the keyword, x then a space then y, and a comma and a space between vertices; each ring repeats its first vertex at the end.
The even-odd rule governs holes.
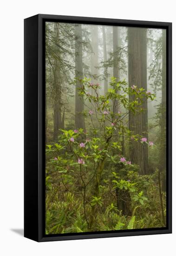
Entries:
MULTIPOLYGON (((145 28, 130 27, 128 29, 128 70, 129 87, 136 85, 147 90, 147 33, 145 28)), ((134 100, 134 96, 130 96, 134 100)), ((136 135, 148 139, 147 101, 141 106, 144 112, 129 114, 129 128, 136 135)), ((140 107, 140 108, 141 108, 140 107)), ((132 163, 138 164, 140 174, 148 174, 148 145, 132 141, 129 145, 129 156, 132 163)))

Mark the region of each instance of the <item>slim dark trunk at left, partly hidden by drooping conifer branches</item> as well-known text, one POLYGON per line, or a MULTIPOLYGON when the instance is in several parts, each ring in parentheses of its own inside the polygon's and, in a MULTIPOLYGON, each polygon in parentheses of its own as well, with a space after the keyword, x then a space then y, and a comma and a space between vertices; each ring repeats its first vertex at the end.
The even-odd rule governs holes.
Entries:
MULTIPOLYGON (((55 40, 59 42, 59 23, 54 24, 54 32, 55 32, 55 40)), ((59 54, 59 52, 58 52, 59 54)), ((53 141, 58 140, 59 128, 61 128, 61 76, 60 76, 60 68, 59 61, 55 59, 54 63, 54 105, 53 105, 53 123, 54 123, 54 131, 53 131, 53 141)))

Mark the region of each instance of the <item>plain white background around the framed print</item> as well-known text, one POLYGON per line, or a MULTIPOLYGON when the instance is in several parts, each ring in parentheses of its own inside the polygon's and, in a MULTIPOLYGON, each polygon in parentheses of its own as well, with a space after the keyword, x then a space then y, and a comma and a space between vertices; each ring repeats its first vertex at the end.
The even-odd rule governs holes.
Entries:
MULTIPOLYGON (((174 0, 4 0, 0 12, 0 254, 176 255, 176 181, 173 234, 36 243, 23 229, 23 19, 37 13, 173 22, 173 113, 176 110, 176 7, 174 0)), ((173 117, 174 118, 174 117, 173 117)), ((176 152, 173 119, 173 152, 176 152)), ((174 158, 173 154, 173 158, 174 158)), ((173 159, 175 165, 175 159, 173 159)), ((33 187, 33 184, 31 184, 33 187)))

